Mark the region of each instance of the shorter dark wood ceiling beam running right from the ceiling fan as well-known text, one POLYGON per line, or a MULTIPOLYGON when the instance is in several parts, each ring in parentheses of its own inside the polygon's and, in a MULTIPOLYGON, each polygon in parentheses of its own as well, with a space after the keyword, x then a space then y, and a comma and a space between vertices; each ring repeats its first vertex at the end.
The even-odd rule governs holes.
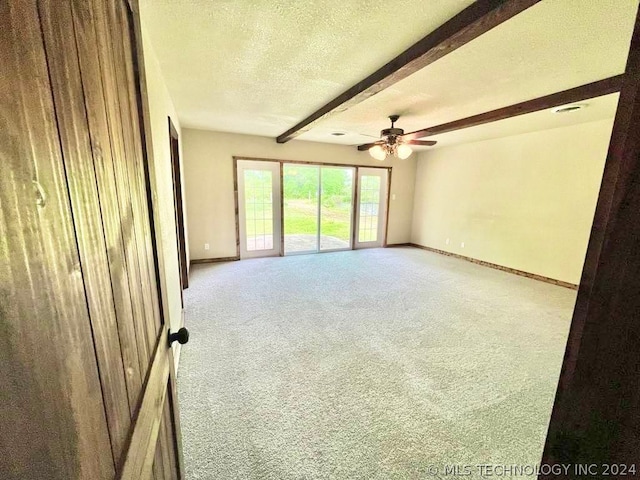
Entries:
POLYGON ((602 95, 608 95, 610 93, 620 91, 623 78, 624 75, 616 75, 615 77, 609 77, 597 82, 587 83, 586 85, 581 85, 569 90, 563 90, 562 92, 552 93, 551 95, 545 95, 544 97, 534 98, 533 100, 527 100, 526 102, 516 103, 515 105, 509 105, 508 107, 498 108, 497 110, 491 110, 490 112, 480 113, 478 115, 424 128, 422 130, 416 130, 415 132, 408 133, 403 138, 405 140, 415 140, 418 138, 432 137, 441 133, 462 130, 463 128, 475 127, 485 123, 517 117, 518 115, 581 102, 589 98, 601 97, 602 95))

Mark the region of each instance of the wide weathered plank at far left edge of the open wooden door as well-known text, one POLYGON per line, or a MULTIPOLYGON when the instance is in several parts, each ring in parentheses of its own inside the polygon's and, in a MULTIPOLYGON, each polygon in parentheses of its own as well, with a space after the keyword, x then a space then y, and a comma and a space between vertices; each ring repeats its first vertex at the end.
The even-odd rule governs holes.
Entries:
POLYGON ((8 479, 110 479, 114 463, 35 1, 0 2, 0 23, 0 471, 8 479))

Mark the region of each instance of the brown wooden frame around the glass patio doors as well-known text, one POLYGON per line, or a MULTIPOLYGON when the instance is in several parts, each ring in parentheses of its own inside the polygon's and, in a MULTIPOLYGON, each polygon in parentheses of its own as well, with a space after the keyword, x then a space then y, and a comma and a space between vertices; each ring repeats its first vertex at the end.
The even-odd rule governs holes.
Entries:
MULTIPOLYGON (((233 190, 234 190, 234 197, 235 197, 235 216, 236 216, 236 257, 233 258, 233 260, 239 260, 240 259, 240 209, 239 209, 239 203, 238 203, 238 161, 242 161, 242 160, 250 160, 250 161, 254 161, 254 162, 277 162, 280 164, 280 211, 283 212, 284 211, 284 205, 283 205, 283 192, 282 192, 282 175, 283 175, 283 166, 285 163, 293 163, 293 164, 299 164, 299 165, 320 165, 320 166, 327 166, 327 167, 352 167, 355 168, 356 170, 356 174, 355 174, 355 178, 354 178, 354 197, 353 197, 353 203, 354 206, 357 205, 358 202, 358 169, 359 168, 379 168, 379 169, 384 169, 387 170, 387 200, 386 200, 386 208, 385 208, 385 218, 384 218, 384 224, 385 224, 385 228, 383 230, 384 236, 383 236, 383 240, 382 240, 382 247, 386 247, 387 246, 387 235, 388 235, 388 228, 389 228, 389 205, 390 205, 390 199, 391 199, 391 176, 393 173, 393 166, 376 166, 376 165, 357 165, 355 163, 336 163, 336 162, 310 162, 310 161, 304 161, 304 160, 284 160, 284 159, 279 159, 279 158, 264 158, 264 157, 248 157, 248 156, 241 156, 241 155, 233 155, 232 157, 233 160, 233 190)), ((351 224, 353 225, 353 236, 351 239, 351 250, 355 249, 355 232, 356 232, 356 228, 355 228, 355 221, 356 221, 356 208, 353 209, 353 218, 351 220, 351 224)), ((280 231, 284 232, 284 215, 280 215, 280 231)), ((336 250, 320 250, 318 253, 330 253, 330 252, 335 252, 336 250)), ((339 251, 345 251, 345 250, 339 250, 339 251)), ((282 233, 280 235, 280 256, 284 256, 284 233, 282 233)))

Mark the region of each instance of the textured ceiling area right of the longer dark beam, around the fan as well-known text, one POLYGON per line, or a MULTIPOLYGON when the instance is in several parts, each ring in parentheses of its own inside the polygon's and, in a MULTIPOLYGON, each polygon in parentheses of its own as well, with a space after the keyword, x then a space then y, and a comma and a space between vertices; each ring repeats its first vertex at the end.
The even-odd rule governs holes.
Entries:
MULTIPOLYGON (((638 0, 544 0, 299 139, 322 141, 327 129, 372 134, 390 113, 418 130, 624 73, 637 9, 638 0)), ((498 137, 613 118, 616 102, 604 107, 491 128, 498 137)))

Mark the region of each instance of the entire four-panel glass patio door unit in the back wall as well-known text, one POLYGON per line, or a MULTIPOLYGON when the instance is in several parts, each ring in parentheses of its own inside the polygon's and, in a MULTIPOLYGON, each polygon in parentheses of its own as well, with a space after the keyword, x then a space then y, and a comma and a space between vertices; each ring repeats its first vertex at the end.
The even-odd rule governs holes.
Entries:
POLYGON ((388 174, 386 168, 238 159, 240 258, 382 246, 388 174))

